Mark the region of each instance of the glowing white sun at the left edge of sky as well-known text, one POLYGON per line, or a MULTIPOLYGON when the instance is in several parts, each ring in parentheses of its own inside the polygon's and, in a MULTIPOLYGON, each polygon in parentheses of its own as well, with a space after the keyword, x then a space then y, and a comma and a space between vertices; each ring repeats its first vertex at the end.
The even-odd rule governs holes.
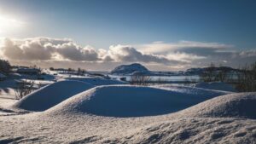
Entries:
POLYGON ((9 32, 15 32, 21 29, 25 23, 21 20, 15 19, 14 17, 0 14, 0 36, 8 34, 9 32))

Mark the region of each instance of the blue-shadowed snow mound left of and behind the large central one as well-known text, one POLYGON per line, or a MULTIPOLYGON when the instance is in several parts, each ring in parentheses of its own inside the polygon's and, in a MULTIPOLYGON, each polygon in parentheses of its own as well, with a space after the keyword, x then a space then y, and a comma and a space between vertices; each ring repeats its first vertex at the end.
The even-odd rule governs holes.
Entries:
POLYGON ((40 112, 93 87, 91 84, 79 81, 60 81, 32 92, 16 102, 12 107, 40 112))

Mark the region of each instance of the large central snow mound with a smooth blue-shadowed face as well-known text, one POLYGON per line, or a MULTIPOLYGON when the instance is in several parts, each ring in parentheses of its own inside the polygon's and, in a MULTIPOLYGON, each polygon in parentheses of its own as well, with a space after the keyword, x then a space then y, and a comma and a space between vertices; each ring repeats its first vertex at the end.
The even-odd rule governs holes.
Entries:
POLYGON ((128 85, 99 86, 50 108, 47 115, 87 113, 107 117, 142 117, 177 112, 223 93, 188 93, 128 85))

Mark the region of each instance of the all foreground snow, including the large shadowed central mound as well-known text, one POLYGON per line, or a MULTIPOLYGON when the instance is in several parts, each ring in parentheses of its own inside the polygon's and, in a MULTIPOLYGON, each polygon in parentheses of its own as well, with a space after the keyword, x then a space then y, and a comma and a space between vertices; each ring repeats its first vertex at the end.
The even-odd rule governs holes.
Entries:
POLYGON ((0 116, 0 143, 255 143, 255 118, 256 93, 99 86, 44 112, 0 116))

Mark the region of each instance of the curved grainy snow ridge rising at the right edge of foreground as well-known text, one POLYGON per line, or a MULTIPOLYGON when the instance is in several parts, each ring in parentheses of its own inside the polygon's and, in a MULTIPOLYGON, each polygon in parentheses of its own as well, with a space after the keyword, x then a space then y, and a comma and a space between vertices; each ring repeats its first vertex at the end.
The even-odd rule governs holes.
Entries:
POLYGON ((186 117, 256 119, 256 92, 221 95, 179 114, 186 117))

